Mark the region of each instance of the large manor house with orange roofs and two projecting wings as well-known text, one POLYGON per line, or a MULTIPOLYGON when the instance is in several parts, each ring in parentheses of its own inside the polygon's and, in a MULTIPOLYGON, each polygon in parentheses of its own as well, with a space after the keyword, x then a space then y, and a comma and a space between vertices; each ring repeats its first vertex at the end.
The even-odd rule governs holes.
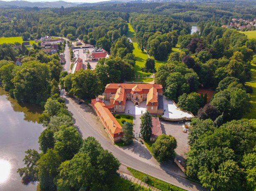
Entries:
POLYGON ((114 112, 125 112, 126 101, 139 105, 146 101, 150 114, 163 114, 163 88, 160 84, 107 84, 105 100, 110 100, 114 112))

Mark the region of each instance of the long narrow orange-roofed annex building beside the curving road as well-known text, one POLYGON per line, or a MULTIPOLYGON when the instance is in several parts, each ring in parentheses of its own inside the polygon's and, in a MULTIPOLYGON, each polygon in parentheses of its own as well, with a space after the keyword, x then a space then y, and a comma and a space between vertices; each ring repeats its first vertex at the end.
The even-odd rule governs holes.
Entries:
POLYGON ((111 106, 105 105, 100 100, 100 98, 91 100, 91 105, 96 114, 98 115, 112 142, 121 141, 123 137, 122 126, 120 126, 120 124, 110 112, 109 108, 111 106))

